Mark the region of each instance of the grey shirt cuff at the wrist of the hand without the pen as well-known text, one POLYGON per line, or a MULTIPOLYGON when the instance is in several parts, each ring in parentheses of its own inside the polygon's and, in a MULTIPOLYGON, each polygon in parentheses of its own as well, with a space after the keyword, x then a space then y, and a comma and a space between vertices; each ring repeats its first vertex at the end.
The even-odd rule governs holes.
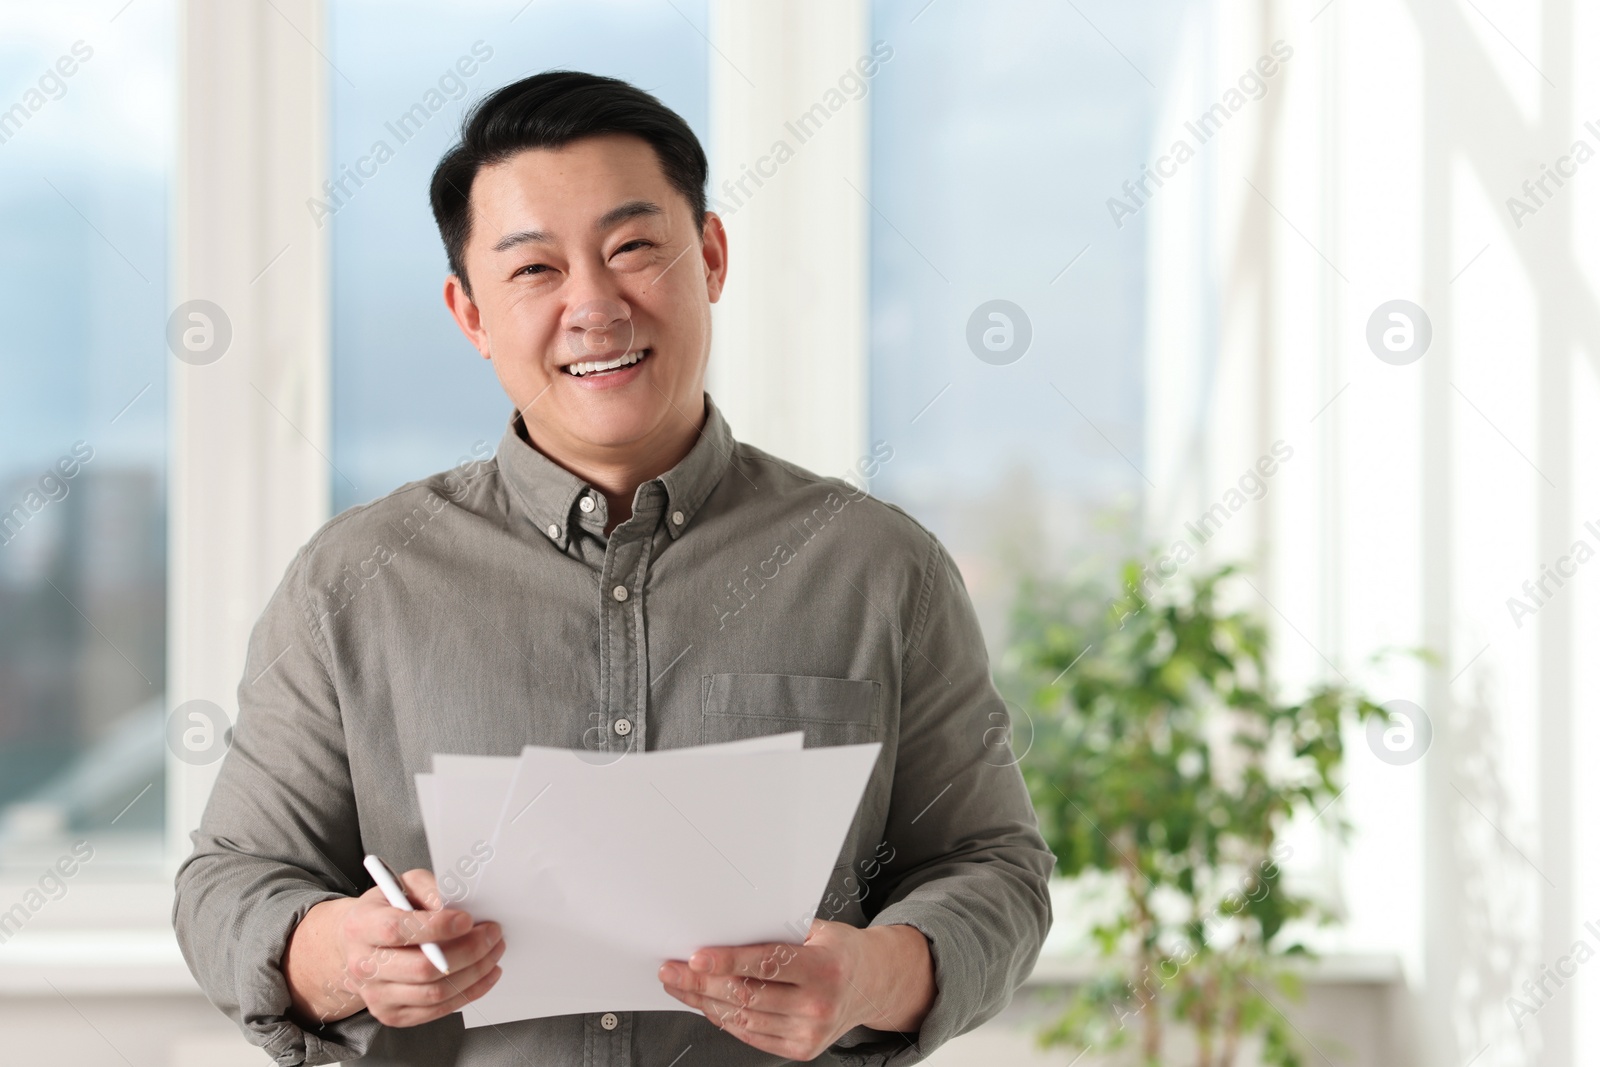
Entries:
POLYGON ((933 957, 933 1006, 917 1033, 883 1033, 856 1027, 835 1045, 845 1067, 906 1067, 918 1064, 952 1037, 981 1022, 986 997, 984 955, 963 921, 941 904, 906 899, 878 912, 869 926, 914 926, 928 939, 933 957))

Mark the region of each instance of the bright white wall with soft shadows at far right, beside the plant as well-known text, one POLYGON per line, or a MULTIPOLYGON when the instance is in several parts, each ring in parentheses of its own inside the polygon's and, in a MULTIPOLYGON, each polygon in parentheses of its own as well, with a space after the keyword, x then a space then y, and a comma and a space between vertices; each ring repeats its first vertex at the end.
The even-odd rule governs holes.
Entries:
POLYGON ((1576 139, 1600 150, 1582 125, 1600 117, 1595 29, 1597 5, 1568 0, 1218 2, 1194 30, 1213 62, 1176 114, 1275 38, 1294 58, 1155 216, 1150 451, 1179 502, 1155 509, 1157 531, 1293 442, 1267 496, 1208 547, 1259 565, 1286 677, 1344 673, 1416 701, 1435 731, 1408 766, 1350 737, 1357 835, 1341 848, 1307 830, 1298 870, 1347 912, 1330 944, 1405 961, 1421 1062, 1600 1056, 1600 976, 1550 984, 1531 1019, 1507 1006, 1534 1006, 1523 981, 1576 941, 1600 950, 1584 929, 1600 917, 1584 715, 1600 566, 1552 582, 1520 627, 1507 608, 1574 541, 1600 550, 1584 528, 1600 515, 1600 165, 1550 186, 1520 227, 1506 203, 1576 139), (1208 291, 1214 352, 1186 334, 1208 336, 1208 291), (1434 330, 1405 366, 1365 336, 1397 298, 1434 330), (1438 662, 1368 664, 1397 646, 1438 662))

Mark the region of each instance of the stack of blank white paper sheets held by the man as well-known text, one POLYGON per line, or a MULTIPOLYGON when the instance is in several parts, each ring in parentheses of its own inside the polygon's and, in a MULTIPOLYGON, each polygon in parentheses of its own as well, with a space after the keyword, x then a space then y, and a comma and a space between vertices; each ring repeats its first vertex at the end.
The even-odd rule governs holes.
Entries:
POLYGON ((416 789, 440 893, 506 934, 466 1025, 690 1011, 664 961, 803 941, 880 747, 435 755, 416 789))

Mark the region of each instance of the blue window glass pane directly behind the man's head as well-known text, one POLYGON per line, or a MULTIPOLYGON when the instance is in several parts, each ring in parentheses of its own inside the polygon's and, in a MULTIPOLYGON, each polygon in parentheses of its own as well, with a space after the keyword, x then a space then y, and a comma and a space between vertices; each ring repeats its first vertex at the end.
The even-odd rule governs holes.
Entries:
POLYGON ((338 67, 330 72, 330 181, 338 187, 326 221, 333 501, 341 510, 443 470, 480 442, 493 450, 510 416, 493 370, 440 296, 448 267, 427 181, 466 107, 528 74, 566 67, 654 93, 704 142, 707 43, 704 0, 448 8, 334 0, 330 19, 338 67))

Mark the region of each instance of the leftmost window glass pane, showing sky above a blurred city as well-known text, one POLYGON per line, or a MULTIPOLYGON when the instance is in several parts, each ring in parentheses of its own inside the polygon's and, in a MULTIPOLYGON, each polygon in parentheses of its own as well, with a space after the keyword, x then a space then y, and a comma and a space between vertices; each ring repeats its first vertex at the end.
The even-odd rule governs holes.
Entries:
POLYGON ((0 869, 162 856, 173 82, 170 3, 0 6, 0 869))

